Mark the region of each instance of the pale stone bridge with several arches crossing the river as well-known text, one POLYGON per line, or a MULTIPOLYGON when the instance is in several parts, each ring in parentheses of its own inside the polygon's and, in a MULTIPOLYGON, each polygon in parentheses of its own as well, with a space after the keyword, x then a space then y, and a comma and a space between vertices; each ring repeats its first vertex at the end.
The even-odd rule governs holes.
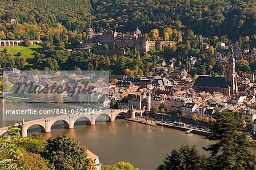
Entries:
MULTIPOLYGON (((117 115, 123 115, 125 118, 135 118, 136 116, 142 116, 145 110, 135 110, 135 109, 117 109, 110 110, 107 114, 68 114, 60 115, 57 117, 48 117, 42 119, 36 119, 33 121, 27 121, 22 123, 16 123, 15 126, 21 129, 22 137, 27 137, 27 130, 31 126, 38 125, 42 132, 51 132, 52 125, 57 121, 63 121, 65 128, 74 128, 77 119, 84 117, 86 125, 95 125, 96 119, 101 115, 107 118, 107 121, 114 122, 117 115)), ((0 135, 7 132, 8 127, 0 128, 0 135)))

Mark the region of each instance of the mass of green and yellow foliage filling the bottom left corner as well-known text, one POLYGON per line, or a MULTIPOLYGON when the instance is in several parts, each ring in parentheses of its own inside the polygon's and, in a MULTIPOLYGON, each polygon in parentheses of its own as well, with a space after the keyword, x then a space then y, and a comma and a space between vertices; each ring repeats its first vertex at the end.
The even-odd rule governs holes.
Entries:
POLYGON ((46 140, 38 133, 21 138, 18 130, 11 126, 0 138, 0 169, 93 169, 93 160, 76 139, 61 135, 46 140))

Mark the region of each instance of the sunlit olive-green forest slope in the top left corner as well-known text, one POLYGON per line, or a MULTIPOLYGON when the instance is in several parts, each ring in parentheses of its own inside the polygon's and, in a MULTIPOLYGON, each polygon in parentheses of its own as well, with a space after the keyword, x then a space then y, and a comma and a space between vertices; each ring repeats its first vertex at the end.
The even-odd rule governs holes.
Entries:
POLYGON ((92 8, 87 0, 3 0, 0 6, 0 18, 3 22, 15 19, 22 24, 47 24, 50 27, 61 23, 68 30, 79 30, 92 18, 92 8))

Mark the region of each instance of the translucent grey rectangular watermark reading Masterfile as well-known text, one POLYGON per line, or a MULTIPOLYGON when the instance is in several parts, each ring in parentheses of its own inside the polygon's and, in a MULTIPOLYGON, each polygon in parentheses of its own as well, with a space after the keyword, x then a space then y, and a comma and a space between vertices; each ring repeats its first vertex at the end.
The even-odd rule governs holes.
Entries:
POLYGON ((102 114, 110 107, 108 71, 6 71, 3 89, 5 121, 102 114))

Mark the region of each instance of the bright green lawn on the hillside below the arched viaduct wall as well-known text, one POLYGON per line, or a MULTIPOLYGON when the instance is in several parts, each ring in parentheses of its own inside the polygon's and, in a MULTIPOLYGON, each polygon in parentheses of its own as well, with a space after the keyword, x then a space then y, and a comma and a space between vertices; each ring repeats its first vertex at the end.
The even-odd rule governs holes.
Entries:
POLYGON ((3 49, 7 49, 8 53, 13 53, 16 55, 18 52, 22 53, 22 57, 26 57, 26 59, 34 59, 35 56, 32 55, 34 52, 40 52, 42 46, 38 44, 32 44, 30 47, 23 47, 23 46, 11 46, 11 47, 0 47, 0 51, 3 49))

